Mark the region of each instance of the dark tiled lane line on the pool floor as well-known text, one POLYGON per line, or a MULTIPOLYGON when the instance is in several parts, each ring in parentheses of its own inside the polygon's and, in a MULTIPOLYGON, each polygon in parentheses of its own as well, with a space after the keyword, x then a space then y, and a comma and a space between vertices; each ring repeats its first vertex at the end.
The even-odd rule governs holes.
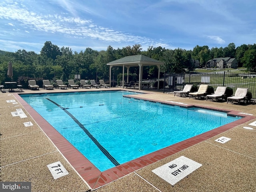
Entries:
POLYGON ((112 157, 112 155, 110 155, 110 153, 96 140, 96 138, 94 138, 94 136, 92 136, 92 134, 90 134, 90 132, 84 127, 84 125, 82 123, 80 123, 70 112, 68 112, 66 110, 66 108, 63 108, 62 106, 60 106, 58 103, 54 102, 53 100, 50 100, 49 98, 46 98, 48 101, 52 102, 53 104, 55 104, 56 106, 58 106, 59 108, 61 108, 62 110, 64 110, 64 112, 66 112, 66 114, 68 114, 73 120, 74 122, 76 122, 80 128, 82 128, 82 130, 84 130, 84 132, 88 135, 88 137, 96 144, 96 146, 102 151, 102 153, 115 165, 118 166, 120 165, 117 160, 115 160, 114 157, 112 157))

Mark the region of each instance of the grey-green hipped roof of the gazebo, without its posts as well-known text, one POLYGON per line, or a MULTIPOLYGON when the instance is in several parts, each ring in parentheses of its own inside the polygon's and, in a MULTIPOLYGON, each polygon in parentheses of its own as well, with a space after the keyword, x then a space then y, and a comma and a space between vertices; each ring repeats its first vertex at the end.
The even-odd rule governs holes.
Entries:
POLYGON ((138 64, 142 64, 144 66, 150 66, 150 65, 163 65, 164 63, 144 55, 126 56, 124 58, 107 63, 107 65, 113 65, 113 66, 123 66, 123 65, 138 66, 138 64))

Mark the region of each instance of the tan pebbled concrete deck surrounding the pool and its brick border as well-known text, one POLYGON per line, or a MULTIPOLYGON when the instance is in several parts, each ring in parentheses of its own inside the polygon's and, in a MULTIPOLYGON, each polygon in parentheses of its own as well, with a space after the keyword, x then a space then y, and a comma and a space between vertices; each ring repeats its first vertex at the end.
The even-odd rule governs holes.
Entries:
MULTIPOLYGON (((92 90, 120 90, 110 89, 68 89, 68 90, 24 90, 24 93, 45 93, 45 92, 72 92, 92 90)), ((132 90, 132 89, 125 89, 132 90)), ((192 192, 192 191, 256 191, 256 126, 248 124, 256 121, 256 105, 232 104, 226 102, 206 101, 194 98, 173 96, 156 91, 143 91, 150 94, 136 95, 138 98, 158 100, 162 102, 178 102, 198 106, 218 108, 234 112, 242 112, 246 121, 228 128, 225 132, 210 136, 204 141, 199 141, 192 146, 181 147, 176 153, 170 153, 155 159, 153 163, 145 160, 142 168, 135 171, 127 167, 127 175, 101 176, 104 186, 87 185, 82 174, 71 166, 72 163, 66 160, 61 148, 46 136, 42 122, 35 122, 34 114, 28 113, 27 106, 12 104, 6 100, 17 100, 17 93, 0 93, 0 180, 6 182, 32 182, 32 191, 162 191, 162 192, 192 192), (27 118, 12 116, 11 112, 22 108, 27 118), (30 115, 31 114, 31 115, 30 115), (248 115, 251 114, 251 115, 248 115), (24 126, 24 122, 32 122, 33 126, 24 126), (244 129, 244 126, 252 127, 253 130, 244 129), (225 136, 231 138, 225 144, 215 140, 225 136), (190 158, 202 166, 172 186, 152 172, 168 162, 180 156, 190 158), (69 172, 68 175, 54 179, 47 168, 48 164, 60 161, 69 172), (114 182, 108 182, 110 178, 118 178, 114 182), (98 188, 100 187, 100 188, 98 188)), ((241 114, 242 115, 242 114, 241 114)), ((43 122, 44 123, 44 122, 43 122)), ((53 133, 54 135, 54 133, 53 133)), ((69 153, 68 149, 65 149, 69 153)), ((172 148, 174 150, 174 148, 172 148)), ((161 154, 159 154, 161 156, 161 154)), ((82 157, 73 157, 74 162, 80 162, 82 157)), ((149 160, 149 159, 148 159, 149 160)), ((122 169, 125 171, 126 167, 122 169)), ((86 176, 88 172, 84 172, 86 176)), ((93 175, 90 175, 93 177, 93 175)), ((89 175, 87 175, 89 177, 89 175)))

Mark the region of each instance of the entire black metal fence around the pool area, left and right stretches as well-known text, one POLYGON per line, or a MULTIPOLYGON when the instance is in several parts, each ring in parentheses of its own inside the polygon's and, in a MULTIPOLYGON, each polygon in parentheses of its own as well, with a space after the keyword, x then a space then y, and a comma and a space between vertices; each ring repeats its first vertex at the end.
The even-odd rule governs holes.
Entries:
MULTIPOLYGON (((96 80, 104 79, 106 84, 116 86, 118 84, 118 77, 113 77, 109 82, 109 76, 95 74, 69 74, 67 77, 65 74, 60 73, 32 73, 32 72, 13 72, 12 78, 7 76, 6 73, 0 73, 0 84, 4 82, 15 81, 22 85, 23 88, 28 88, 28 80, 36 80, 37 84, 42 88, 43 80, 50 80, 51 84, 55 86, 56 80, 63 80, 64 84, 68 84, 68 79, 74 79, 75 82, 79 82, 80 79, 96 80)), ((157 88, 157 80, 146 80, 150 82, 151 88, 157 88)), ((164 74, 164 81, 160 81, 160 89, 164 92, 172 92, 175 90, 182 90, 186 84, 208 84, 212 86, 214 90, 218 86, 227 86, 236 91, 238 87, 248 88, 252 93, 252 98, 256 98, 256 73, 244 73, 244 72, 209 72, 209 73, 189 73, 189 74, 164 74)))

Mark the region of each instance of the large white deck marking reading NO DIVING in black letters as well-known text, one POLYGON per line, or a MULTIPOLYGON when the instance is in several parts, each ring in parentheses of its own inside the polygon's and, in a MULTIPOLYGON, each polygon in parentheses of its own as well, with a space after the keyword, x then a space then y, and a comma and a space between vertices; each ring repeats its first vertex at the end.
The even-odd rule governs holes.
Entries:
POLYGON ((174 185, 200 166, 202 166, 202 164, 184 156, 180 156, 179 158, 152 170, 152 172, 171 185, 174 185))

